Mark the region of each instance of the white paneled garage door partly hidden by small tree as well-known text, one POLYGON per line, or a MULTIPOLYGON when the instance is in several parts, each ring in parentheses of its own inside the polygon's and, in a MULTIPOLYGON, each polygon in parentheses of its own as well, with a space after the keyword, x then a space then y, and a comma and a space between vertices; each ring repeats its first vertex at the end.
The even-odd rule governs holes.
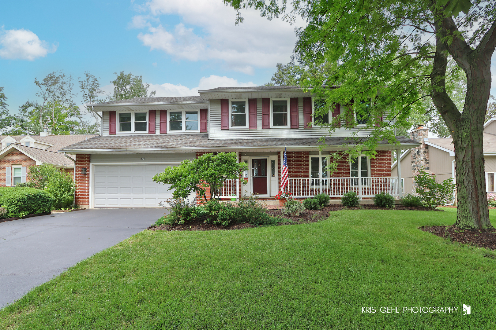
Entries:
POLYGON ((93 207, 158 207, 173 190, 152 177, 167 166, 173 165, 95 165, 93 207))

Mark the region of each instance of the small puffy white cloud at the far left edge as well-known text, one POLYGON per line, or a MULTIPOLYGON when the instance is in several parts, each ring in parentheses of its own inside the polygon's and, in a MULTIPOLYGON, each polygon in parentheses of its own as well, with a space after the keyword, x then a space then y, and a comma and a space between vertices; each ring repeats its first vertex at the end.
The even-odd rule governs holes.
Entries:
POLYGON ((0 30, 0 57, 4 59, 27 59, 34 61, 57 50, 58 45, 49 45, 38 36, 24 29, 0 30))

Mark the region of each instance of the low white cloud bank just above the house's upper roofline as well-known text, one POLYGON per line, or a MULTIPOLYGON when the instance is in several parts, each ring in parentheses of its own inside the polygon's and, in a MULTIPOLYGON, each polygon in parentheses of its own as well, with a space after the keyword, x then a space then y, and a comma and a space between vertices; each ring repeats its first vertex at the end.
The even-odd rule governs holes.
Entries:
MULTIPOLYGON (((112 86, 112 85, 110 85, 112 86)), ((238 80, 233 78, 228 78, 226 76, 220 77, 216 75, 211 75, 210 77, 202 77, 198 83, 198 87, 189 89, 181 84, 150 84, 148 91, 157 91, 156 97, 168 97, 168 96, 195 96, 198 95, 198 91, 209 90, 217 87, 244 87, 244 86, 257 86, 253 82, 240 83, 238 80)), ((107 86, 105 86, 107 87, 107 86)))

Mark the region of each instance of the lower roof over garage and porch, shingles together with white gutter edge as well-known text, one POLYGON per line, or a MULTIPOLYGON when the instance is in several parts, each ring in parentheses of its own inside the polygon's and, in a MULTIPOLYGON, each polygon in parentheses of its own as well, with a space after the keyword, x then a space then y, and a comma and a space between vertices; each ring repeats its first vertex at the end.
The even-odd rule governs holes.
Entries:
MULTIPOLYGON (((362 138, 365 139, 365 138, 362 138)), ((396 137, 399 145, 380 141, 378 150, 409 149, 420 143, 405 137, 396 137)), ((345 138, 326 138, 324 150, 342 150, 345 138)), ((355 143, 356 141, 353 141, 355 143)), ((351 141, 348 140, 348 143, 351 141)), ((69 154, 106 153, 180 153, 208 151, 281 151, 287 144, 288 151, 318 150, 322 143, 317 138, 281 139, 208 139, 208 134, 161 134, 98 136, 63 147, 69 154)))

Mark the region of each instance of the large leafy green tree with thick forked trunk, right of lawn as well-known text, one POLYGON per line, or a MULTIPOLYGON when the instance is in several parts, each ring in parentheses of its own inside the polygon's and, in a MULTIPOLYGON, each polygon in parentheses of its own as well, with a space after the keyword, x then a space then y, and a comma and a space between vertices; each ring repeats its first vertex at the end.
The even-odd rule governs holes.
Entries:
MULTIPOLYGON (((459 228, 493 229, 489 221, 483 156, 483 125, 496 46, 496 1, 476 0, 224 0, 238 10, 255 8, 271 19, 284 15, 307 25, 297 29, 294 56, 320 67, 301 86, 326 101, 316 114, 342 105, 337 120, 353 115, 373 128, 355 153, 395 141, 395 127, 431 98, 453 138, 459 228), (463 13, 462 13, 463 12, 463 13), (451 69, 449 69, 451 68, 451 69), (463 109, 450 97, 465 75, 463 109), (344 112, 344 113, 343 113, 344 112), (342 117, 342 118, 340 118, 342 117), (381 120, 382 119, 382 120, 381 120)), ((329 124, 329 132, 336 122, 329 124)))

